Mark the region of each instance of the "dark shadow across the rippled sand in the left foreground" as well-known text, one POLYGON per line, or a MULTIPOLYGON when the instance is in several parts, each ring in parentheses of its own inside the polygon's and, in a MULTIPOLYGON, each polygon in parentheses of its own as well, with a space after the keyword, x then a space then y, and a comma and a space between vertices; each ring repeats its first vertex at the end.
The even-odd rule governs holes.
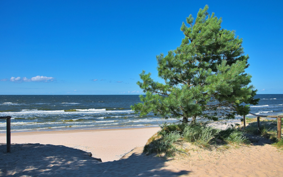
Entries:
MULTIPOLYGON (((102 159, 103 160, 103 159, 102 159)), ((169 160, 132 153, 113 162, 99 162, 86 152, 55 145, 0 144, 0 176, 180 176, 190 171, 166 168, 169 160)))

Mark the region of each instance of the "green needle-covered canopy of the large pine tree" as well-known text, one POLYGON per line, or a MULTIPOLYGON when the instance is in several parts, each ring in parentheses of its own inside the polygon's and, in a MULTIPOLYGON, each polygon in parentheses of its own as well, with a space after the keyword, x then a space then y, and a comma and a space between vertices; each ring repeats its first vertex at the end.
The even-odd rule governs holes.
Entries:
POLYGON ((181 26, 185 38, 180 47, 157 56, 158 77, 164 83, 142 71, 137 84, 146 96, 140 95, 142 102, 131 106, 136 113, 196 123, 246 115, 246 104, 257 104, 252 76, 245 73, 249 56, 244 55, 242 39, 233 30, 221 29, 222 18, 207 11, 206 5, 195 20, 189 15, 188 25, 181 26))

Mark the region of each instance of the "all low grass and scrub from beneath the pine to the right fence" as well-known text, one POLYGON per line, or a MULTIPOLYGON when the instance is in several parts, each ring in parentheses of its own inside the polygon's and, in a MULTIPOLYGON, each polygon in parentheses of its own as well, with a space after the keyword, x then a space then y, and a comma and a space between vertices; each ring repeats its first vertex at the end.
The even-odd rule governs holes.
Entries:
MULTIPOLYGON (((277 140, 277 121, 261 119, 260 136, 270 139, 273 145, 283 150, 283 140, 277 140)), ((247 134, 257 135, 256 119, 246 119, 245 130, 242 127, 216 129, 202 124, 163 124, 161 130, 152 136, 144 147, 146 154, 165 153, 172 157, 175 153, 186 152, 180 144, 190 143, 201 148, 226 149, 230 145, 248 145, 247 134)))

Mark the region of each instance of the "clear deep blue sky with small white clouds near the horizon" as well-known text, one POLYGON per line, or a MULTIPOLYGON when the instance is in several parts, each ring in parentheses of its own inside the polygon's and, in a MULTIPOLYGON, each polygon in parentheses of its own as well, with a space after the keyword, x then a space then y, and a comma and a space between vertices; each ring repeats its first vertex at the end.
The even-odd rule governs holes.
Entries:
POLYGON ((0 94, 140 94, 142 70, 208 12, 236 30, 259 94, 283 94, 283 1, 0 1, 0 94))

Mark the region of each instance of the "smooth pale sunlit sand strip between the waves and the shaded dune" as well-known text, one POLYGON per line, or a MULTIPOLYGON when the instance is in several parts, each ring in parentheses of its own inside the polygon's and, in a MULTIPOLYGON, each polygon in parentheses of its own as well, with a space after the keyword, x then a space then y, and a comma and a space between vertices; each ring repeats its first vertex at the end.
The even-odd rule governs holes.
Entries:
MULTIPOLYGON (((67 130, 11 133, 11 143, 40 143, 63 145, 91 152, 103 162, 119 160, 135 147, 142 147, 159 127, 139 129, 67 130)), ((6 143, 6 134, 0 134, 6 143)), ((13 149, 11 150, 14 151, 13 149)))

